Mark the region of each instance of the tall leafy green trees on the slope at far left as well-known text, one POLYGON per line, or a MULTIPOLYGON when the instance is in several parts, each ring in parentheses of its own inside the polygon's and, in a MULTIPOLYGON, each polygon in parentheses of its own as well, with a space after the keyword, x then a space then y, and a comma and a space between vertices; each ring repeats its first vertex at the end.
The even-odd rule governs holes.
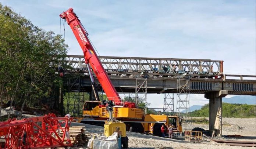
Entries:
MULTIPOLYGON (((67 53, 60 35, 34 26, 0 3, 0 98, 40 106, 62 86, 55 68, 67 53)), ((57 96, 58 98, 58 96, 57 96)), ((54 100, 54 99, 53 99, 54 100)))

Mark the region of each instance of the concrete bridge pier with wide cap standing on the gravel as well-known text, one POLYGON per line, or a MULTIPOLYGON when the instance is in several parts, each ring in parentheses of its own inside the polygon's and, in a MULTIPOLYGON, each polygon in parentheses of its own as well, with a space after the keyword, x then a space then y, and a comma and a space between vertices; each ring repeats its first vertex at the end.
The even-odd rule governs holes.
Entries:
MULTIPOLYGON (((209 99, 209 130, 216 135, 222 135, 222 98, 228 95, 228 91, 221 90, 205 94, 209 99), (219 112, 218 112, 219 110, 219 112), (217 116, 217 121, 216 121, 217 116)), ((210 133, 212 134, 212 133, 210 133)))

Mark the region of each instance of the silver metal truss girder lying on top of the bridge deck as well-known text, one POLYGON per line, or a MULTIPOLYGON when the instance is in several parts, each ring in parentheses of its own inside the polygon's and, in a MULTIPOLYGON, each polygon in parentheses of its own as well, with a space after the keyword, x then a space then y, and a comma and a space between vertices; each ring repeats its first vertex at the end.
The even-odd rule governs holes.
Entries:
MULTIPOLYGON (((189 75, 222 75, 223 61, 210 59, 172 59, 172 58, 139 58, 139 57, 99 57, 104 69, 119 74, 147 73, 159 75, 178 75, 185 70, 189 75)), ((65 58, 70 70, 84 70, 85 59, 79 55, 67 55, 65 58)), ((68 69, 67 69, 68 70, 68 69)))

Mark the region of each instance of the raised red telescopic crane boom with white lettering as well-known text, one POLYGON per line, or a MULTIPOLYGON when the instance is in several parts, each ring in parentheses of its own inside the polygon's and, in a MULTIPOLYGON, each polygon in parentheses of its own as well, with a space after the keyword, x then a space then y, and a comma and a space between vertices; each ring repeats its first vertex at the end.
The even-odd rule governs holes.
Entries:
MULTIPOLYGON (((83 55, 85 57, 85 63, 90 64, 95 73, 97 79, 99 80, 104 92, 106 93, 109 100, 114 101, 115 105, 124 105, 124 107, 135 108, 134 104, 128 103, 125 104, 122 102, 121 98, 119 97, 117 91, 115 90, 107 72, 102 66, 92 43, 88 38, 88 33, 83 28, 82 23, 78 19, 77 15, 74 13, 72 8, 69 8, 67 11, 60 14, 60 17, 66 19, 68 25, 70 25, 71 30, 73 31, 75 37, 79 45, 83 50, 83 55), (134 105, 134 106, 131 106, 134 105)), ((90 68, 88 68, 90 69, 90 68)))

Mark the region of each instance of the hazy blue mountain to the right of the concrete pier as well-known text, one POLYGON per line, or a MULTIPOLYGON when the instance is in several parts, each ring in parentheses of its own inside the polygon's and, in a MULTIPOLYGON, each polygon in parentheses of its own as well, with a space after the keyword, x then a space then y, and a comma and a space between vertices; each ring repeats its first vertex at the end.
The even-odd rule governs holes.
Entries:
POLYGON ((256 105, 256 96, 238 95, 231 98, 222 98, 222 102, 256 105))

